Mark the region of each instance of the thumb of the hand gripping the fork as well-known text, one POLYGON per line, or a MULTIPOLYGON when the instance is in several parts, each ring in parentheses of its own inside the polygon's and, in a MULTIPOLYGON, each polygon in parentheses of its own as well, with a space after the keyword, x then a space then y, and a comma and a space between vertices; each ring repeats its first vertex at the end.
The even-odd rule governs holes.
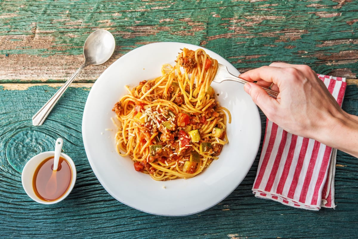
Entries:
POLYGON ((249 82, 244 85, 246 93, 250 94, 252 101, 266 114, 277 107, 277 100, 269 96, 267 92, 255 83, 249 82))

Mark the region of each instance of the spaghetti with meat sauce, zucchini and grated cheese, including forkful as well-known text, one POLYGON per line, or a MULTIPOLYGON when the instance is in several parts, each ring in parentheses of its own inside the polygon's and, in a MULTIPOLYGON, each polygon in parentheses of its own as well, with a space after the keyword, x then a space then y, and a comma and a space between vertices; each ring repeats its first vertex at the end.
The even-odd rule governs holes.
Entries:
POLYGON ((165 64, 158 78, 142 81, 115 103, 120 125, 117 152, 129 155, 136 171, 154 180, 198 175, 228 143, 229 111, 210 86, 218 68, 203 49, 184 48, 176 64, 165 64))

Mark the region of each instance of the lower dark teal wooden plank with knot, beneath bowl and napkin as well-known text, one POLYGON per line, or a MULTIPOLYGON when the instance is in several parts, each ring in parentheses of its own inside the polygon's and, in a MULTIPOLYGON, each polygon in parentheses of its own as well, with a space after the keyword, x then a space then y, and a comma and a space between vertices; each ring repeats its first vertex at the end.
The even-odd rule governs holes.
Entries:
MULTIPOLYGON (((334 210, 294 209, 253 196, 261 148, 243 182, 209 210, 166 217, 132 209, 103 189, 87 161, 81 122, 88 88, 70 87, 44 125, 32 126, 32 115, 56 90, 0 88, 0 238, 357 238, 358 161, 340 151, 334 210), (38 204, 25 194, 20 172, 32 156, 53 150, 57 137, 76 164, 77 182, 64 201, 38 204)), ((356 113, 357 97, 357 86, 348 86, 343 109, 356 113)))

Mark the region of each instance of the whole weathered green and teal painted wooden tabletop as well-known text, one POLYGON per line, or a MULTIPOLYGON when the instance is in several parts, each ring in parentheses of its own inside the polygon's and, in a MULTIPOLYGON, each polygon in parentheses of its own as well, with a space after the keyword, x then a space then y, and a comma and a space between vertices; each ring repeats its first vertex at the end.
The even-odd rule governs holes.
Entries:
POLYGON ((342 107, 358 114, 357 10, 353 0, 1 1, 0 238, 358 238, 358 163, 341 151, 336 209, 307 211, 254 197, 260 147, 243 182, 221 203, 166 217, 113 199, 93 174, 81 134, 97 77, 130 50, 163 41, 211 49, 241 72, 284 61, 347 77, 342 107), (113 57, 84 69, 44 125, 33 126, 33 114, 83 63, 83 43, 96 29, 115 36, 113 57), (66 200, 45 206, 25 194, 21 171, 58 137, 77 166, 77 182, 66 200))

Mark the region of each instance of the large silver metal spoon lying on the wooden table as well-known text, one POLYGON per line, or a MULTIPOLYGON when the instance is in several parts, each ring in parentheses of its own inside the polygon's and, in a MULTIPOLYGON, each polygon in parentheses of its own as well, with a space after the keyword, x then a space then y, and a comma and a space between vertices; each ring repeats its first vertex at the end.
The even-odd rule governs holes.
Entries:
POLYGON ((44 106, 32 117, 34 126, 42 125, 58 99, 66 91, 68 86, 87 65, 100 65, 105 63, 113 54, 115 40, 107 30, 96 30, 88 36, 83 46, 84 63, 78 70, 63 84, 63 86, 44 104, 44 106))

